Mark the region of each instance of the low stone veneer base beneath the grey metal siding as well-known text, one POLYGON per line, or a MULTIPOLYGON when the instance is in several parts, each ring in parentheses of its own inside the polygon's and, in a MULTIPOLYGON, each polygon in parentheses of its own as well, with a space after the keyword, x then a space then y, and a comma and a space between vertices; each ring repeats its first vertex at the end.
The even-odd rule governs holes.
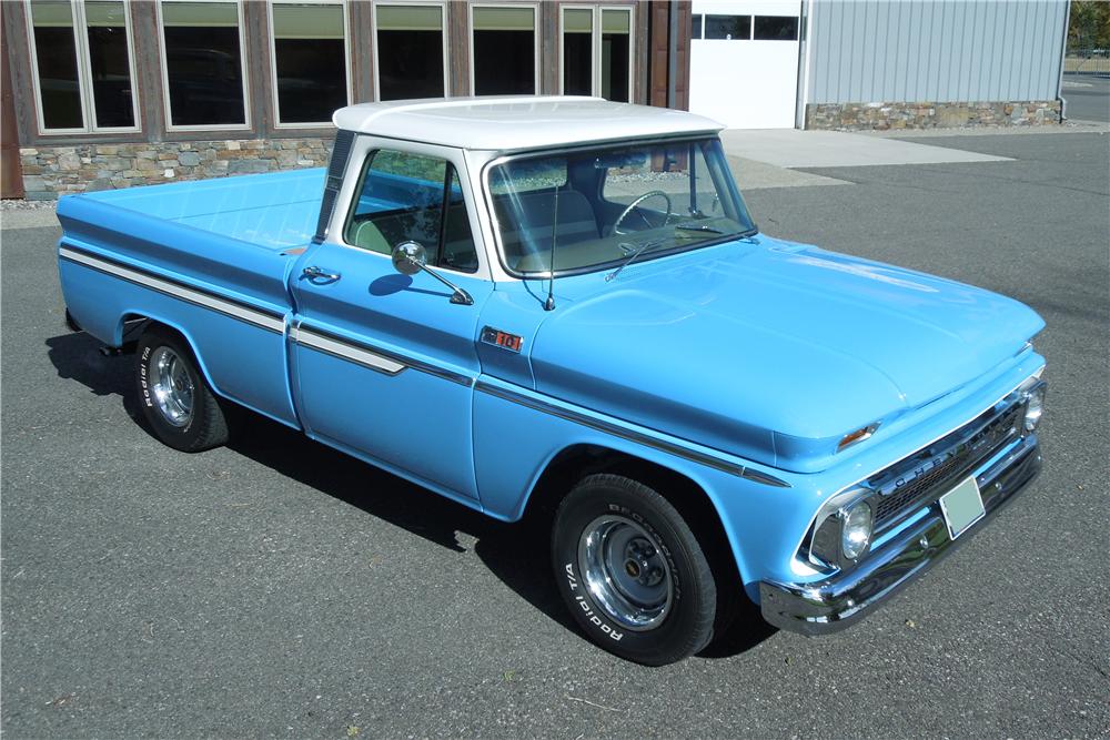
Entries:
POLYGON ((958 126, 1045 125, 1060 122, 1060 101, 1001 103, 816 103, 807 129, 848 131, 958 126))

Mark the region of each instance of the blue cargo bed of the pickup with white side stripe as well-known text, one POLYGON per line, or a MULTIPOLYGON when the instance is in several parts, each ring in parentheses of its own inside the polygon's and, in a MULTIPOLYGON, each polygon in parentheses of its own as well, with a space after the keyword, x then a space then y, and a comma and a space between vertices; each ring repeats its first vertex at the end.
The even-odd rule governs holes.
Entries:
POLYGON ((289 271, 316 227, 324 170, 61 199, 59 275, 73 320, 119 346, 124 322, 176 328, 210 385, 285 424, 289 271))

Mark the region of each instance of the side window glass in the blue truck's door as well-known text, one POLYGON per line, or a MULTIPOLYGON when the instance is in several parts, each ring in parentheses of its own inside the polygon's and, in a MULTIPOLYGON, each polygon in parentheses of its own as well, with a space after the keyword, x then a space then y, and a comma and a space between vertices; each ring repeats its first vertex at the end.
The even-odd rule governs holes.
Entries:
POLYGON ((376 150, 366 158, 355 192, 347 244, 390 254, 402 242, 417 242, 430 265, 477 271, 458 173, 446 160, 376 150))

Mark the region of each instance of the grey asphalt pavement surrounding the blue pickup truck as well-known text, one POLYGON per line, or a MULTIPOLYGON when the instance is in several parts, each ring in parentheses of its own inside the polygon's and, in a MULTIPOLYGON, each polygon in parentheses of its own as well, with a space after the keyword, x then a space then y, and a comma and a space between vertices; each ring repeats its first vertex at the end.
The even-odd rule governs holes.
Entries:
POLYGON ((998 291, 1048 322, 1046 469, 854 629, 745 627, 649 669, 563 615, 546 543, 249 418, 183 455, 131 358, 62 326, 54 227, 0 245, 0 723, 11 738, 1110 734, 1110 139, 813 171, 776 236, 998 291))

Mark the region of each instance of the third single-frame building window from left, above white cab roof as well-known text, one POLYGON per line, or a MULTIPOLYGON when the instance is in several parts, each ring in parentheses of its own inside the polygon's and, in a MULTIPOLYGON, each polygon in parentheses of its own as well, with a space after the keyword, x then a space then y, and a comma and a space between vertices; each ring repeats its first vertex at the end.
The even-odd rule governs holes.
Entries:
POLYGON ((375 6, 377 99, 443 98, 447 55, 444 7, 375 6))

